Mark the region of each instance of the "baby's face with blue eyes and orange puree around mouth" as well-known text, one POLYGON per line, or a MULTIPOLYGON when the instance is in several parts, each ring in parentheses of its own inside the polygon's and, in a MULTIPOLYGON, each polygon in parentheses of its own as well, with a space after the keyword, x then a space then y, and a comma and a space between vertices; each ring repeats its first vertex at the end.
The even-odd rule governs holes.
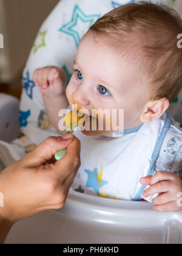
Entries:
MULTIPOLYGON (((124 129, 141 124, 140 115, 147 102, 147 86, 138 66, 127 57, 95 41, 89 32, 79 44, 74 62, 75 72, 67 87, 70 106, 78 109, 124 110, 124 129)), ((86 135, 99 135, 113 131, 84 131, 86 135)))

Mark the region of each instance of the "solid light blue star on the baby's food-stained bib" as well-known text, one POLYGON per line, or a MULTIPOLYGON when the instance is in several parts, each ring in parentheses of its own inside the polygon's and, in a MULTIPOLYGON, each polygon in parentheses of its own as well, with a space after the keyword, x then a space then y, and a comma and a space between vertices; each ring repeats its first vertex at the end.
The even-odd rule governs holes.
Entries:
POLYGON ((93 188, 93 190, 95 190, 95 192, 99 195, 99 189, 101 187, 103 187, 104 185, 106 185, 108 182, 106 182, 105 180, 98 180, 98 170, 97 168, 95 168, 95 170, 89 171, 89 170, 84 170, 85 172, 87 172, 88 174, 88 180, 87 180, 87 184, 86 187, 87 188, 93 188))

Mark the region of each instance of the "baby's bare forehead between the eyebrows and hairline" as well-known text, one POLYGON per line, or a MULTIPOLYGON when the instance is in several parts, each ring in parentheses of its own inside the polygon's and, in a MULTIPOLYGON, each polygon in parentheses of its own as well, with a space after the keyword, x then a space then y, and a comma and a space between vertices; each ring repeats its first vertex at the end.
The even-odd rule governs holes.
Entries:
POLYGON ((118 54, 116 49, 104 43, 104 38, 84 37, 79 44, 75 64, 84 77, 108 85, 118 93, 143 84, 140 69, 125 53, 118 54))

